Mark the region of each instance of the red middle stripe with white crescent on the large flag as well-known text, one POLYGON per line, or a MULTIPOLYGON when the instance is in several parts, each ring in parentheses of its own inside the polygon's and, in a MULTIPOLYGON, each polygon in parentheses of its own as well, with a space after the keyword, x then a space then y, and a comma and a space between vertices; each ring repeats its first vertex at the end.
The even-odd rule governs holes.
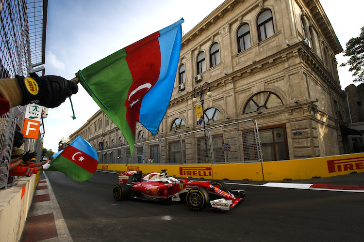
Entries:
POLYGON ((158 81, 161 70, 161 50, 159 47, 159 31, 144 39, 125 47, 132 85, 125 102, 126 119, 135 136, 135 121, 139 120, 140 105, 144 95, 158 81))

